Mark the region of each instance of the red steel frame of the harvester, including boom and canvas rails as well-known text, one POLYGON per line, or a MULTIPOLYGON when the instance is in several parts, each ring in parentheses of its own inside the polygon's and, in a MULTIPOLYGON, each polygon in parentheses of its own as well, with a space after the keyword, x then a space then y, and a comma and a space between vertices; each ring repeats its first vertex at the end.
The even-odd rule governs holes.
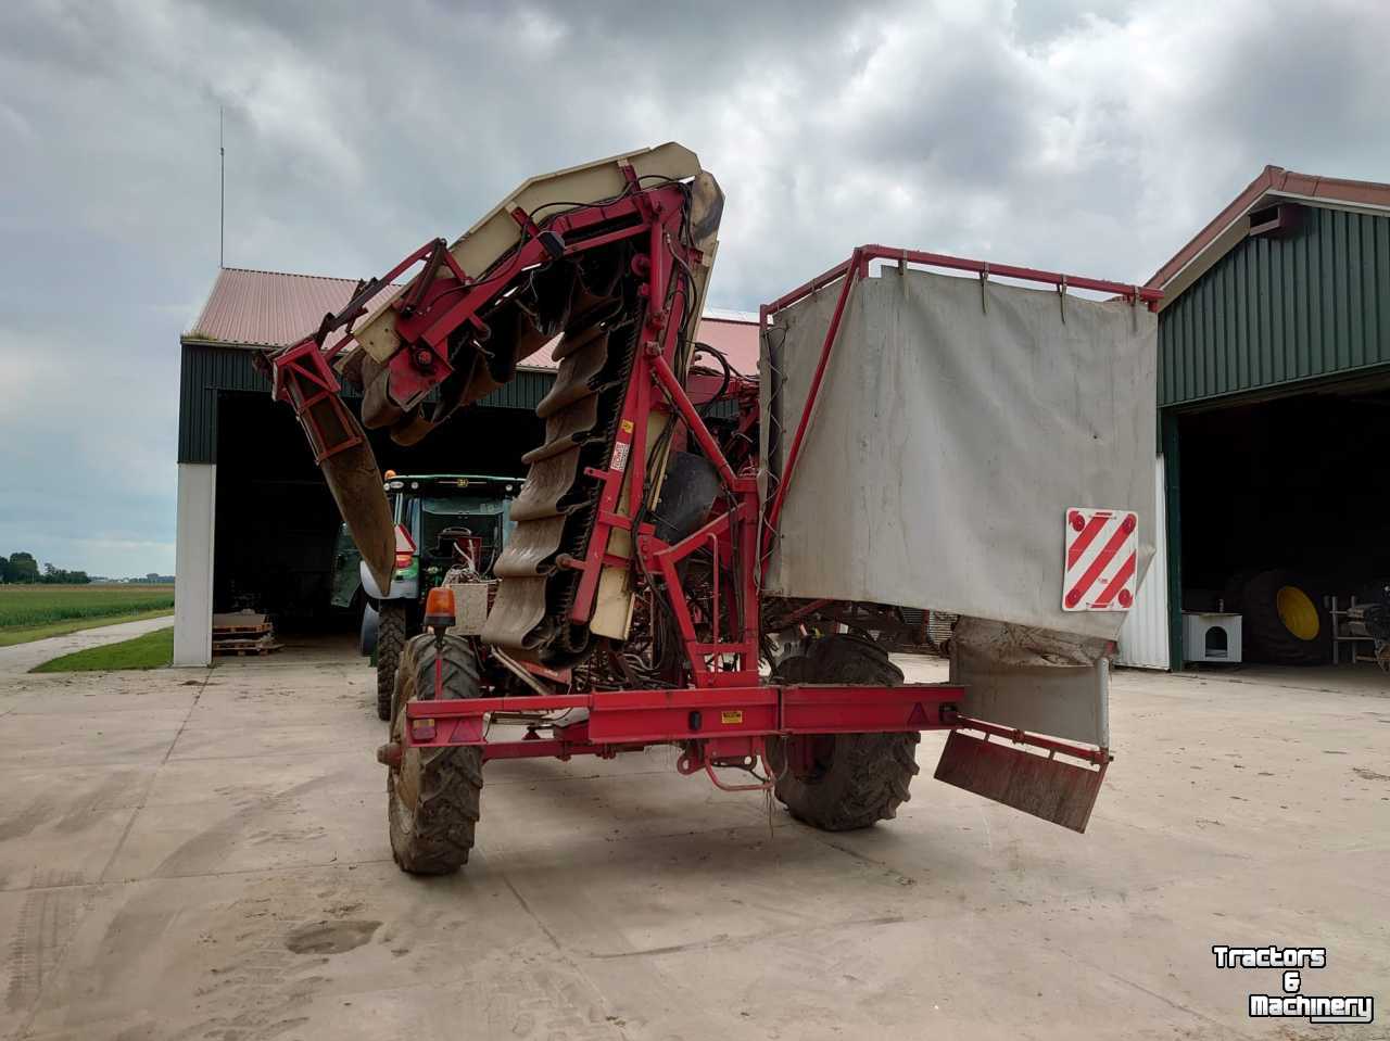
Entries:
MULTIPOLYGON (((1056 285, 1062 290, 1066 286, 1097 289, 1150 306, 1155 304, 1158 293, 1116 282, 1069 278, 1031 268, 990 265, 983 261, 934 253, 890 250, 881 246, 856 249, 844 264, 760 310, 760 324, 766 328, 776 311, 837 279, 842 279, 840 300, 826 334, 810 391, 788 452, 787 466, 771 503, 763 511, 758 492, 756 464, 749 463, 735 471, 673 370, 674 359, 681 346, 678 315, 684 314, 689 303, 685 299, 688 282, 676 279, 677 268, 688 270, 702 260, 696 250, 681 243, 680 231, 685 196, 674 185, 644 190, 631 170, 626 172, 630 189, 621 197, 603 204, 567 210, 543 221, 545 232, 553 232, 553 236, 542 238, 541 227, 528 214, 520 210, 513 213, 523 229, 521 245, 510 259, 482 278, 471 278, 463 272, 443 249, 442 240, 435 240, 413 253, 386 279, 377 281, 373 286, 381 286, 420 260, 425 261, 425 275, 392 304, 399 311, 396 331, 402 342, 407 345, 388 363, 393 377, 392 386, 393 391, 407 395, 414 402, 448 375, 450 334, 466 322, 481 327, 480 310, 493 302, 516 275, 548 259, 574 254, 619 239, 645 236, 646 252, 638 254, 634 271, 646 279, 642 286, 646 315, 621 407, 620 432, 609 466, 605 470, 589 470, 587 474, 603 485, 599 493, 594 532, 584 559, 566 556, 560 557, 557 564, 582 573, 570 613, 571 621, 582 624, 592 616, 602 568, 631 568, 631 559, 609 552, 613 532, 628 532, 639 570, 646 575, 659 575, 664 585, 664 589, 656 591, 656 595, 664 595, 674 612, 685 645, 691 685, 685 688, 411 702, 406 706, 409 720, 404 732, 406 744, 428 748, 480 746, 484 759, 542 756, 569 759, 575 755, 610 757, 653 744, 680 744, 685 748, 678 763, 682 773, 703 769, 716 784, 726 788, 730 785, 723 784, 716 777, 713 767, 716 764, 753 764, 763 755, 766 738, 776 735, 906 732, 967 727, 983 730, 987 734, 994 732, 998 737, 1006 735, 1015 742, 1038 745, 1040 739, 1030 735, 1004 731, 992 724, 959 717, 956 702, 962 695, 962 688, 952 684, 821 687, 764 682, 758 673, 759 587, 766 566, 762 548, 766 538, 777 531, 787 486, 819 396, 845 304, 855 281, 867 275, 870 260, 885 259, 897 260, 899 264, 915 263, 977 271, 983 278, 995 274, 1041 281, 1056 285), (607 227, 603 228, 603 225, 607 227), (443 277, 431 281, 430 277, 438 271, 441 264, 448 264, 452 278, 443 277), (669 421, 678 417, 685 424, 688 435, 694 438, 714 466, 723 491, 723 509, 714 511, 701 528, 674 545, 657 538, 652 524, 638 521, 644 499, 648 420, 653 414, 664 414, 669 421), (630 460, 637 460, 637 466, 630 467, 630 460), (628 482, 626 489, 624 481, 628 482), (731 591, 720 589, 720 568, 716 567, 709 603, 713 631, 709 641, 702 641, 698 637, 687 593, 681 585, 678 564, 691 553, 706 546, 712 548, 716 559, 734 573, 734 588, 731 591), (719 620, 724 617, 726 606, 721 603, 721 595, 723 599, 728 600, 727 616, 733 620, 734 631, 728 634, 719 631, 719 620), (562 717, 538 724, 539 728, 550 730, 553 737, 549 739, 539 738, 532 730, 523 741, 488 741, 486 719, 489 713, 525 713, 531 719, 539 719, 545 713, 564 713, 575 709, 582 709, 587 713, 580 721, 564 726, 562 717)), ((357 297, 353 303, 359 303, 357 297)), ((360 306, 357 311, 360 313, 360 306)), ((342 324, 345 315, 346 311, 338 315, 336 324, 342 324)), ((346 320, 350 321, 352 317, 356 314, 346 320)), ((324 329, 328 327, 329 320, 325 320, 324 329)), ((309 360, 302 356, 307 353, 310 345, 313 345, 314 353, 320 352, 324 329, 316 338, 296 345, 274 360, 277 396, 285 395, 279 379, 281 367, 303 370, 309 360)), ((336 392, 336 381, 328 370, 327 360, 342 349, 346 339, 309 361, 316 391, 336 392)), ((293 400, 292 403, 297 404, 293 400)), ((306 423, 306 427, 310 425, 306 423)), ((314 442, 317 454, 322 438, 320 435, 316 441, 314 432, 310 431, 310 441, 314 442)), ((1097 752, 1055 741, 1040 746, 1091 763, 1105 762, 1104 749, 1097 752)), ((767 787, 770 782, 769 778, 760 785, 737 787, 756 788, 767 787)))

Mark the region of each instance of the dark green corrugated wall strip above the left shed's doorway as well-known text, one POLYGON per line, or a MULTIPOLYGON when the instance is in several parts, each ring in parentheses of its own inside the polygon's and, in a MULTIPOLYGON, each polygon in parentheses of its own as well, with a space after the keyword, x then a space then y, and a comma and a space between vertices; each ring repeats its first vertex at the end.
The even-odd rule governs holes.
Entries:
MULTIPOLYGON (((179 374, 178 461, 217 461, 217 396, 224 391, 270 393, 270 384, 252 364, 254 352, 207 343, 185 343, 179 374)), ((478 404, 534 410, 555 377, 517 372, 516 379, 478 404)), ((346 395, 352 396, 352 395, 346 395)))

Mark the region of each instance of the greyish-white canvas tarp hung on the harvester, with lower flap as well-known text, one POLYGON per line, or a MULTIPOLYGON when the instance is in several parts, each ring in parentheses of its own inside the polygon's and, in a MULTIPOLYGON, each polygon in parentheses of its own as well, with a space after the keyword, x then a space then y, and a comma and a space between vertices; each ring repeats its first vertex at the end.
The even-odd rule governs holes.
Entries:
MULTIPOLYGON (((834 284, 778 311, 764 332, 769 493, 838 295, 834 284)), ((988 719, 1105 744, 1104 678, 1037 631, 1091 638, 1077 646, 1094 659, 1126 617, 1062 609, 1068 509, 1136 511, 1140 581, 1148 568, 1155 364, 1156 317, 1123 300, 894 268, 859 281, 766 591, 1005 623, 1002 642, 962 631, 955 678, 974 682, 988 719), (1074 682, 1038 682, 1063 674, 1074 682)))

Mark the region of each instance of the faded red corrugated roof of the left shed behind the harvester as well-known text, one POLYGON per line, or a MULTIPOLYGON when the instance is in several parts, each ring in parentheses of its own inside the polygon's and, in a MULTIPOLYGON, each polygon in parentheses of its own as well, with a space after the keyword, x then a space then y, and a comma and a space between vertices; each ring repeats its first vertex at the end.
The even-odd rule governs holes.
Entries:
MULTIPOLYGON (((357 282, 350 278, 222 268, 202 314, 183 339, 250 347, 285 346, 318 328, 325 314, 352 299, 356 288, 357 282)), ((375 303, 368 304, 368 313, 375 303)), ((724 352, 739 372, 751 375, 758 371, 756 317, 708 315, 701 320, 696 338, 724 352)), ((549 350, 542 350, 523 364, 555 368, 556 363, 550 360, 549 350)))

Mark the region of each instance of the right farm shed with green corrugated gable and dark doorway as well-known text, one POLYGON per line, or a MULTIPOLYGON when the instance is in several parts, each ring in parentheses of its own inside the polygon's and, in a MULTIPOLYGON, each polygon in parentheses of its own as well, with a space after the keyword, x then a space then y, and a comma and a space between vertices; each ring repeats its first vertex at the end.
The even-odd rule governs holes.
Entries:
POLYGON ((1266 167, 1148 285, 1166 584, 1120 659, 1219 660, 1184 612, 1225 612, 1245 660, 1332 662, 1327 598, 1390 581, 1390 185, 1266 167))

